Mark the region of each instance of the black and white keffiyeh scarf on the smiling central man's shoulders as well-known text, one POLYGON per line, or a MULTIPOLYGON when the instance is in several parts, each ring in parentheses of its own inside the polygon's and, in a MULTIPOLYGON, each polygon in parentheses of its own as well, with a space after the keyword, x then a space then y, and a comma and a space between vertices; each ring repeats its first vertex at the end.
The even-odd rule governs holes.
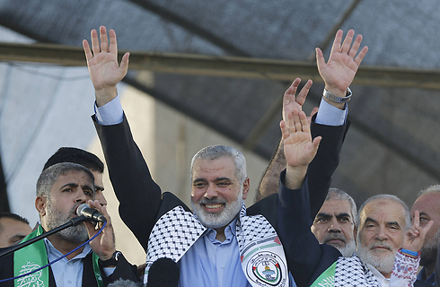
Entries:
MULTIPOLYGON (((236 223, 243 272, 252 286, 288 286, 288 271, 283 246, 277 232, 262 215, 247 216, 242 205, 236 223)), ((145 279, 159 258, 178 262, 207 230, 194 213, 177 206, 165 213, 154 225, 148 239, 145 279)))

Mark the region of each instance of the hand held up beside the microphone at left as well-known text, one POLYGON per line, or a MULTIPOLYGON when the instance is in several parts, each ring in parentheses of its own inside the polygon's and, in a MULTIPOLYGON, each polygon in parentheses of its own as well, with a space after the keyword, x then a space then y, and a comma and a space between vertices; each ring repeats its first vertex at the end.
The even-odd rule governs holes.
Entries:
MULTIPOLYGON (((95 239, 90 241, 90 247, 93 252, 101 258, 101 260, 110 259, 115 253, 115 234, 113 231, 113 227, 111 225, 110 215, 107 213, 107 207, 105 205, 101 205, 99 201, 89 200, 89 206, 98 210, 99 213, 105 216, 107 219, 107 224, 105 228, 102 230, 101 234, 99 234, 95 239)), ((87 227, 87 232, 89 233, 89 238, 92 238, 93 235, 98 233, 99 230, 96 230, 92 222, 86 221, 84 222, 87 227)), ((102 222, 99 223, 99 229, 102 227, 102 222)))

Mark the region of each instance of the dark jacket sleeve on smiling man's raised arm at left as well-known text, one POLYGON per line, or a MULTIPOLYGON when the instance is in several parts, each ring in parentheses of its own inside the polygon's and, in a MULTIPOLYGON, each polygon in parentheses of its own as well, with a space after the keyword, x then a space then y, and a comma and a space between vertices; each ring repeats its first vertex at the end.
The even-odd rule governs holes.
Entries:
POLYGON ((101 126, 92 116, 101 140, 111 185, 119 200, 119 215, 146 251, 162 199, 124 115, 118 125, 101 126))

